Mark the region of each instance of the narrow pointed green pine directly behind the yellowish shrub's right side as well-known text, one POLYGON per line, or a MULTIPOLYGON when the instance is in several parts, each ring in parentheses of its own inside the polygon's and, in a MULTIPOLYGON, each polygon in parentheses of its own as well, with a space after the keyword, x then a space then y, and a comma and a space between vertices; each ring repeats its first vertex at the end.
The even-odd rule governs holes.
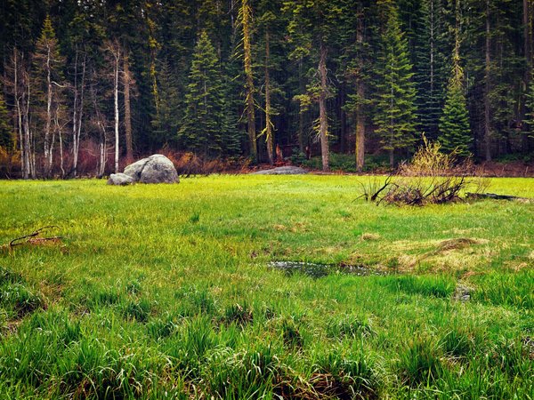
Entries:
POLYGON ((472 137, 465 105, 464 72, 460 67, 458 39, 452 61, 452 75, 440 118, 441 148, 449 152, 455 151, 458 156, 470 156, 472 137))

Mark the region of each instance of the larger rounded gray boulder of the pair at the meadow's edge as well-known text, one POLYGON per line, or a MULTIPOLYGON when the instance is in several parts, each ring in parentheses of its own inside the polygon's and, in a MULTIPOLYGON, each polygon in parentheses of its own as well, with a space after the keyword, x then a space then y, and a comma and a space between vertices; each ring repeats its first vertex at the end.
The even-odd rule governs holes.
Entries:
POLYGON ((155 154, 128 165, 125 168, 125 175, 141 183, 176 183, 180 181, 173 162, 161 154, 155 154))

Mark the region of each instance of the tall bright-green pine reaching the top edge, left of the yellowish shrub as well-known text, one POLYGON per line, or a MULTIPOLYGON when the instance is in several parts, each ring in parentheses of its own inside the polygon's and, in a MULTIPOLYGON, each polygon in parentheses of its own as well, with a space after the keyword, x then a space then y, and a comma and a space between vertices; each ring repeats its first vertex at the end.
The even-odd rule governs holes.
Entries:
POLYGON ((380 6, 386 18, 376 82, 375 124, 393 166, 394 151, 409 150, 416 140, 416 88, 412 81, 408 42, 401 31, 397 9, 391 0, 381 1, 380 6))

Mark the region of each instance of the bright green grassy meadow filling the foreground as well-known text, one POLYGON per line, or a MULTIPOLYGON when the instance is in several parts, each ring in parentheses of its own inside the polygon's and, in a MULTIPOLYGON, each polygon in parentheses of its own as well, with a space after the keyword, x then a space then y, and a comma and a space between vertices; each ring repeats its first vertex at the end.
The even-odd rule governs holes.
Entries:
POLYGON ((534 398, 534 204, 370 179, 0 182, 0 244, 62 237, 0 250, 0 398, 534 398))

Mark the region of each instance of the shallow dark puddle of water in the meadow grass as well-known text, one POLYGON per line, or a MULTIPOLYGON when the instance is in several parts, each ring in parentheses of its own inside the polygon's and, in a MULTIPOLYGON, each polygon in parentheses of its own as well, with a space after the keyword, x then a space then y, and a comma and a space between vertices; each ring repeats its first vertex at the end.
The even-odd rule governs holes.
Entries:
POLYGON ((269 268, 280 269, 287 275, 304 274, 312 277, 327 276, 330 274, 346 274, 355 276, 384 276, 387 272, 360 265, 317 264, 314 262, 299 261, 271 261, 269 268))

